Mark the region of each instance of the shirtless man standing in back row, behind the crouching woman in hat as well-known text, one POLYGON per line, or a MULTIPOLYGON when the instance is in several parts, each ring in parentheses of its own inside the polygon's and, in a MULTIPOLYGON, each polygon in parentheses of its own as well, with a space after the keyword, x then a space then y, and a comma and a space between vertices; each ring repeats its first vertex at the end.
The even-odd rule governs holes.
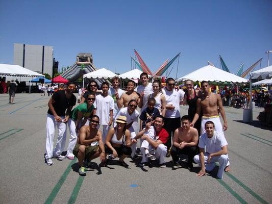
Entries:
POLYGON ((136 86, 136 83, 132 80, 129 80, 127 85, 127 92, 123 93, 120 98, 117 94, 115 95, 117 106, 119 109, 122 108, 122 106, 128 107, 129 101, 132 99, 136 100, 137 103, 139 103, 140 97, 138 93, 134 91, 135 86, 136 86))

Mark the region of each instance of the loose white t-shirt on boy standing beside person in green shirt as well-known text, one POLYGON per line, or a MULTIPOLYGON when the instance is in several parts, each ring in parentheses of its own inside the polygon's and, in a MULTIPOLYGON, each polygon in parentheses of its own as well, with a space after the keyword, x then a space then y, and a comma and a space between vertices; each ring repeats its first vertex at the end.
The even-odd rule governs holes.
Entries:
POLYGON ((108 124, 110 121, 110 110, 114 109, 114 101, 110 95, 104 97, 97 95, 95 102, 98 104, 96 107, 96 115, 100 118, 100 124, 108 124))

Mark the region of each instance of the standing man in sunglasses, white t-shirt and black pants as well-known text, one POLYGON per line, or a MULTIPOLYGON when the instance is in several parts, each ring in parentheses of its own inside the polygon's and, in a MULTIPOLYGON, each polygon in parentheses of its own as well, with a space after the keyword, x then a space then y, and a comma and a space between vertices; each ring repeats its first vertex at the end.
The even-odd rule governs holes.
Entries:
POLYGON ((170 157, 171 139, 174 136, 174 132, 181 126, 180 122, 180 104, 182 103, 184 91, 175 90, 175 80, 168 78, 166 80, 166 87, 164 89, 166 99, 166 112, 164 120, 164 129, 168 132, 169 137, 166 142, 167 155, 170 157))

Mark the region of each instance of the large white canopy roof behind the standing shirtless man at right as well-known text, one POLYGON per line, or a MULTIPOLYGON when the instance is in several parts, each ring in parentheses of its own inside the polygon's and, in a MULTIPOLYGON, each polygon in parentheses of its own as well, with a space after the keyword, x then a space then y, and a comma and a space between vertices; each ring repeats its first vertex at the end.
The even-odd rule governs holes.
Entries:
POLYGON ((233 82, 233 83, 246 83, 248 80, 238 77, 235 74, 221 70, 219 68, 207 65, 201 67, 176 81, 181 82, 185 80, 192 80, 194 82, 210 81, 210 82, 233 82))

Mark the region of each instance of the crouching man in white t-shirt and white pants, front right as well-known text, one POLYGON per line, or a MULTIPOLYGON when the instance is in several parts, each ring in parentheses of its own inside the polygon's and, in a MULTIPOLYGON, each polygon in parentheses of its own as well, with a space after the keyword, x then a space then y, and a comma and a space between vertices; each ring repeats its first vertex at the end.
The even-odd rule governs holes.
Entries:
POLYGON ((205 123, 206 133, 200 136, 199 148, 200 154, 194 156, 195 163, 201 165, 201 170, 197 176, 203 176, 206 171, 212 171, 215 162, 219 162, 217 179, 222 179, 223 172, 230 171, 228 157, 228 142, 220 133, 214 131, 214 123, 207 121, 205 123), (206 147, 206 151, 205 151, 206 147))

